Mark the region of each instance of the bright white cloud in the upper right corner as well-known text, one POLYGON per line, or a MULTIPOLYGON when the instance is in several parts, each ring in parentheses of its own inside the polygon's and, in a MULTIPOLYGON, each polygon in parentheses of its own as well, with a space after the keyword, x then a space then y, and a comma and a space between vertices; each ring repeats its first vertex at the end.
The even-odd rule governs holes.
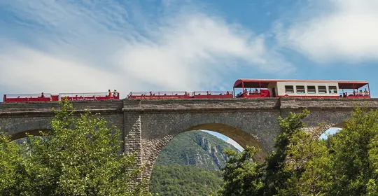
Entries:
MULTIPOLYGON (((311 17, 298 16, 279 41, 316 62, 378 60, 378 1, 322 0, 311 17), (301 20, 300 18, 304 18, 301 20)), ((319 1, 316 1, 319 3, 319 1)))

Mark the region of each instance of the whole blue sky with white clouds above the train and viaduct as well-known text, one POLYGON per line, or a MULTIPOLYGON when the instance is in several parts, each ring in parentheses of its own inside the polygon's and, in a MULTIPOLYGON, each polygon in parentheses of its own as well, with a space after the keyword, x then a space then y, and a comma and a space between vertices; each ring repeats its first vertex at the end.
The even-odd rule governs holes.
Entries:
POLYGON ((376 97, 377 9, 376 0, 2 0, 0 94, 290 78, 368 80, 376 97))

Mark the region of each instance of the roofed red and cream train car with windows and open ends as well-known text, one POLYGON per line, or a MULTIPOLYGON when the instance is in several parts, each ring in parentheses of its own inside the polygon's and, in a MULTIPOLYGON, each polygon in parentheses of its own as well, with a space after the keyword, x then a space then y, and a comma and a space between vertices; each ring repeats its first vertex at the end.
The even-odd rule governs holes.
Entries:
POLYGON ((260 80, 239 79, 234 84, 235 97, 344 97, 370 98, 367 81, 356 80, 260 80), (235 94, 235 88, 241 89, 235 94))

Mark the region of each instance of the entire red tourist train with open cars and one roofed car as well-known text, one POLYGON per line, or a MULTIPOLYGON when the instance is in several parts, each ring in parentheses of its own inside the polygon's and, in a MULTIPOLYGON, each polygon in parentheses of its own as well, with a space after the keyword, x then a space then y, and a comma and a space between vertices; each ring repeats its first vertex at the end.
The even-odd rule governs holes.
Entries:
MULTIPOLYGON (((370 98, 367 81, 356 80, 261 80, 238 79, 230 91, 195 92, 130 92, 126 99, 224 99, 267 97, 340 97, 370 98), (237 93, 238 92, 238 93, 237 93), (237 93, 237 94, 236 94, 237 93)), ((120 94, 60 93, 60 94, 4 94, 3 102, 54 102, 61 99, 108 100, 120 99, 120 94)))

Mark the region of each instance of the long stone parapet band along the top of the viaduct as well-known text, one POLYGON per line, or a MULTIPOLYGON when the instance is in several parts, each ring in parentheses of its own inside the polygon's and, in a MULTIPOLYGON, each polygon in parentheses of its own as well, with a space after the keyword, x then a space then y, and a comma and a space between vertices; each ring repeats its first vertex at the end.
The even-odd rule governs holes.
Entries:
MULTIPOLYGON (((169 100, 106 100, 73 102, 78 111, 89 109, 93 112, 122 111, 209 111, 209 110, 264 110, 264 109, 351 109, 355 106, 367 106, 378 109, 378 98, 372 99, 169 99, 169 100)), ((52 107, 59 108, 57 102, 22 102, 0 103, 0 116, 18 113, 51 112, 52 107)))

